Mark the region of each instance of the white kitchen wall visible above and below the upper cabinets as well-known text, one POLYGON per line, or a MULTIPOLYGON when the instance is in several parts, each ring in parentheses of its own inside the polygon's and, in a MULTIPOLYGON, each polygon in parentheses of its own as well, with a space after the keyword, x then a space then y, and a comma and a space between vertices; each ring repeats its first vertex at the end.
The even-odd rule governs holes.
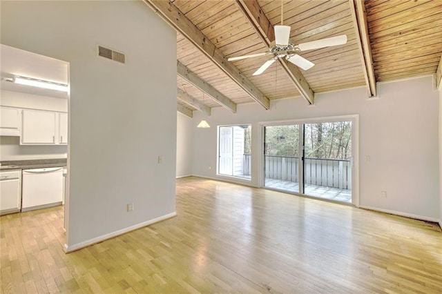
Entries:
MULTIPOLYGON (((67 112, 68 100, 8 90, 0 91, 1 106, 67 112)), ((66 158, 67 146, 20 145, 20 137, 0 136, 0 160, 66 158)))

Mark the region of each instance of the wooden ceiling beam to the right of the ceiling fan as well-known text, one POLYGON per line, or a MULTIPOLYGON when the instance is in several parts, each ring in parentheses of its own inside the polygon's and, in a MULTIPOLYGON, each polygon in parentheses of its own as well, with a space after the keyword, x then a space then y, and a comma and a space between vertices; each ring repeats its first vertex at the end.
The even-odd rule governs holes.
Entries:
POLYGON ((365 4, 361 0, 349 0, 352 19, 356 30, 356 41, 361 55, 365 84, 369 97, 376 96, 376 77, 374 75, 372 47, 368 35, 367 14, 365 4))

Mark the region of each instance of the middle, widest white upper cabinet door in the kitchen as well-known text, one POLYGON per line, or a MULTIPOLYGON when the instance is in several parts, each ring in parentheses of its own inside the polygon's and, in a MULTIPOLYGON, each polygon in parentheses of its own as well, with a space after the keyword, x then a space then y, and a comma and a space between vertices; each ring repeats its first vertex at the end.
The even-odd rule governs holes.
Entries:
POLYGON ((56 112, 23 110, 21 144, 55 144, 56 112))

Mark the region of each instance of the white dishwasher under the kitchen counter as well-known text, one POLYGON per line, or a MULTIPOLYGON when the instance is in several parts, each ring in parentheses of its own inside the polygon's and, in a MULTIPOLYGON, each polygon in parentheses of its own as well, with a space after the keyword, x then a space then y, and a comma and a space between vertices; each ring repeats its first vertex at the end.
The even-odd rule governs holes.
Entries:
POLYGON ((63 201, 63 167, 23 170, 21 211, 60 205, 63 201))

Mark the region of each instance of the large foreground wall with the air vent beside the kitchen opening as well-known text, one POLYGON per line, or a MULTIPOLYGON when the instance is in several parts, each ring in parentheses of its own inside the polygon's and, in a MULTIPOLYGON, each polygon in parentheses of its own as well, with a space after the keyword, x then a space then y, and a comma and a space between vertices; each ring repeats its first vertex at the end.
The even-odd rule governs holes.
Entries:
POLYGON ((68 251, 175 214, 172 28, 142 1, 2 1, 1 43, 70 63, 68 251))

